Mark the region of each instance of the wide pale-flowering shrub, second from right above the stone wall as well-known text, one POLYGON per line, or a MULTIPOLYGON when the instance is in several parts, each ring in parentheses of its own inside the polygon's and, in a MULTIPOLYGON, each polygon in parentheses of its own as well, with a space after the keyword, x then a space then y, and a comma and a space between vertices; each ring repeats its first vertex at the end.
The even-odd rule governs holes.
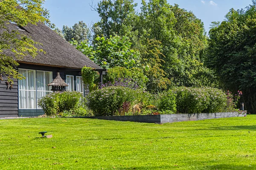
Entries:
POLYGON ((209 95, 204 88, 178 87, 172 92, 177 94, 178 113, 202 113, 209 106, 209 95))

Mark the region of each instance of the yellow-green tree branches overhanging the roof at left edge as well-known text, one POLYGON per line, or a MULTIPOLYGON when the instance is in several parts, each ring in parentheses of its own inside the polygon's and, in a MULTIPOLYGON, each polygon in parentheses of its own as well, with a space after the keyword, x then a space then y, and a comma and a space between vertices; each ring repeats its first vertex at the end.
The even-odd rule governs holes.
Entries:
POLYGON ((44 0, 0 0, 0 79, 8 77, 22 79, 23 76, 17 72, 19 65, 15 59, 31 55, 35 57, 38 52, 43 52, 36 48, 37 42, 29 37, 20 34, 17 30, 9 30, 9 22, 15 22, 18 26, 26 26, 28 23, 46 23, 49 26, 48 11, 42 7, 44 0), (20 5, 20 6, 19 6, 20 5), (5 51, 12 51, 15 57, 9 56, 5 51))

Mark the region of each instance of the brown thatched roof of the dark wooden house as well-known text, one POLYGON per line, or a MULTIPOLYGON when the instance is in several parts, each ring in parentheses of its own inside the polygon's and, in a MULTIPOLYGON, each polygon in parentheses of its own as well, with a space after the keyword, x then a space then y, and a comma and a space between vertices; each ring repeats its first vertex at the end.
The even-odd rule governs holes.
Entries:
MULTIPOLYGON (((42 45, 35 46, 46 52, 46 54, 39 52, 35 59, 31 56, 23 57, 23 59, 18 60, 20 63, 62 68, 82 68, 86 65, 87 67, 102 69, 43 23, 38 23, 37 26, 28 24, 23 27, 25 31, 18 29, 12 23, 6 26, 9 31, 18 30, 20 34, 30 37, 35 42, 40 42, 42 45)), ((6 51, 5 54, 14 56, 10 51, 6 51)))

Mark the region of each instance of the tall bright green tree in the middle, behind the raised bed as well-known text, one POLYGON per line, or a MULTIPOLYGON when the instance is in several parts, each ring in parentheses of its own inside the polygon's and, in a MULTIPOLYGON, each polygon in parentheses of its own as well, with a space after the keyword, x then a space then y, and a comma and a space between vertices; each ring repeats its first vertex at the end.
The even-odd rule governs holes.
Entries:
POLYGON ((163 71, 175 85, 200 86, 204 71, 201 54, 206 47, 204 25, 192 12, 169 5, 166 0, 143 0, 138 30, 140 37, 162 43, 163 71), (196 81, 195 81, 196 80, 196 81))

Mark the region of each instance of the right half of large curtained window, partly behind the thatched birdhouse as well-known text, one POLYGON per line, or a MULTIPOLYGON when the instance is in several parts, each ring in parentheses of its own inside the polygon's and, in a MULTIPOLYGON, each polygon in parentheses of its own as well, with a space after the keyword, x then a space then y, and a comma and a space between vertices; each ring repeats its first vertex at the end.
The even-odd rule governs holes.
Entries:
POLYGON ((47 94, 51 93, 52 72, 36 71, 37 101, 47 94))

